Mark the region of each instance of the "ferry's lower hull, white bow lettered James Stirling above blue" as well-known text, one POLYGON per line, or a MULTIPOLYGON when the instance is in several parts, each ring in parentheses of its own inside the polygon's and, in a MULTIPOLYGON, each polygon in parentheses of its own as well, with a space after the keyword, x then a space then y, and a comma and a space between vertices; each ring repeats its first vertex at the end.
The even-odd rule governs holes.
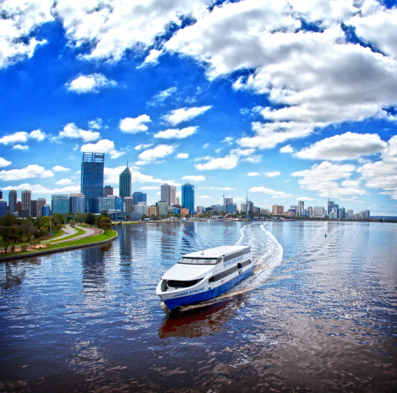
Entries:
POLYGON ((254 265, 255 264, 252 263, 251 266, 248 266, 247 270, 244 270, 242 273, 237 274, 237 276, 216 286, 215 288, 211 288, 211 286, 208 285, 208 280, 204 280, 206 284, 198 283, 198 285, 193 288, 186 288, 183 290, 167 293, 161 291, 160 282, 156 292, 170 310, 179 306, 199 303, 222 295, 229 289, 239 284, 245 278, 251 276, 251 274, 254 272, 254 265))

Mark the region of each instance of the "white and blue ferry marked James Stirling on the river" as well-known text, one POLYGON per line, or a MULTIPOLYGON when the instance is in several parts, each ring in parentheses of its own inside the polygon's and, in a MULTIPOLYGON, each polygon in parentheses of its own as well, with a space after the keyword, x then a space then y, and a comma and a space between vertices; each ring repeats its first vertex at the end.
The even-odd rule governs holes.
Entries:
POLYGON ((251 248, 223 245, 183 255, 160 279, 157 295, 168 309, 212 299, 254 272, 251 248))

